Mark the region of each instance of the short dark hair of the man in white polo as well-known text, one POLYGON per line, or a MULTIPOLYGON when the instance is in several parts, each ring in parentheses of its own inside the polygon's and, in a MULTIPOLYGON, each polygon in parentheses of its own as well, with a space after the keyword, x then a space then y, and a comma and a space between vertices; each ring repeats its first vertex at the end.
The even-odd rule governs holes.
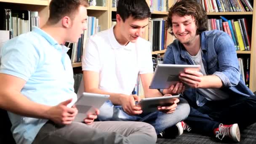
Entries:
POLYGON ((149 5, 145 0, 118 0, 117 14, 123 21, 129 16, 133 19, 146 19, 151 16, 149 5))

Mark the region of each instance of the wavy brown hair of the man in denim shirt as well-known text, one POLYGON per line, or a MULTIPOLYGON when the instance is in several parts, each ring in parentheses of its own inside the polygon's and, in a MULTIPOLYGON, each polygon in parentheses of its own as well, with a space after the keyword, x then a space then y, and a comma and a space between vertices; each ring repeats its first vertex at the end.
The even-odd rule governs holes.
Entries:
POLYGON ((170 28, 170 34, 173 34, 172 27, 172 16, 193 16, 195 18, 195 24, 197 25, 197 35, 201 34, 207 29, 207 13, 203 9, 203 6, 200 3, 197 3, 196 0, 180 0, 176 2, 168 11, 168 25, 166 29, 170 28))

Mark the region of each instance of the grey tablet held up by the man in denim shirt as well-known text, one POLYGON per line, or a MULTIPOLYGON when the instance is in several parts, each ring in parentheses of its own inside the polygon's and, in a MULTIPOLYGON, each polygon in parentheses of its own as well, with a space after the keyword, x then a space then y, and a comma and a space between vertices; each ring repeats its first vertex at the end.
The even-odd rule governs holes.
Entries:
POLYGON ((179 74, 185 69, 199 71, 200 65, 187 64, 157 64, 154 76, 149 85, 152 89, 168 89, 171 85, 178 83, 179 74))

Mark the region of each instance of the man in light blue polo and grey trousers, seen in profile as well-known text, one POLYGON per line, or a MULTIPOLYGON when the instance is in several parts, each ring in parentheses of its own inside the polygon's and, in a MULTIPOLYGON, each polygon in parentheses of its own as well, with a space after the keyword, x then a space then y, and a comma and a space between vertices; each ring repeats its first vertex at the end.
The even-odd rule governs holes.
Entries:
POLYGON ((143 122, 72 122, 77 100, 68 48, 86 29, 87 0, 51 0, 47 23, 3 46, 0 108, 8 110, 16 144, 155 144, 143 122))

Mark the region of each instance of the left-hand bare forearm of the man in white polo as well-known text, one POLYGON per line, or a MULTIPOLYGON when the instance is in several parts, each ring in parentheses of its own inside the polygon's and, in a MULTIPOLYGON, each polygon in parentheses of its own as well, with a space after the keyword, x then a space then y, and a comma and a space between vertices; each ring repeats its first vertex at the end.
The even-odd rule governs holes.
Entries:
POLYGON ((115 105, 121 105, 121 99, 124 96, 121 93, 109 93, 107 91, 103 91, 99 88, 91 88, 91 89, 85 89, 85 92, 88 93, 99 93, 99 94, 107 94, 109 95, 109 100, 115 104, 115 105))

